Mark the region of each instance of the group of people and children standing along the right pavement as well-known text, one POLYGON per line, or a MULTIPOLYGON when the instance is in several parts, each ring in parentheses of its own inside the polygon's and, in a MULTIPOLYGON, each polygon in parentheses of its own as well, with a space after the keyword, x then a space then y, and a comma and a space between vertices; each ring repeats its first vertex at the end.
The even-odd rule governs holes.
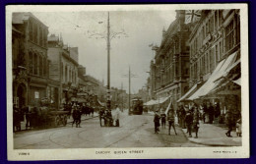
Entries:
POLYGON ((177 119, 178 125, 182 129, 187 129, 188 137, 192 137, 192 133, 195 133, 195 138, 198 137, 200 121, 204 124, 213 124, 214 120, 218 118, 220 123, 220 117, 224 117, 224 123, 228 128, 227 132, 225 133, 226 137, 231 137, 230 133, 233 128, 236 128, 236 135, 237 137, 241 137, 241 118, 239 115, 239 111, 233 110, 231 105, 228 105, 224 116, 221 116, 221 108, 219 103, 212 103, 207 102, 203 103, 202 105, 198 106, 196 103, 192 105, 180 105, 176 112, 174 111, 173 107, 171 107, 167 111, 167 115, 164 113, 163 109, 158 109, 155 112, 154 123, 155 123, 155 134, 159 134, 160 132, 160 123, 162 129, 165 129, 165 123, 168 122, 168 135, 170 135, 171 127, 174 130, 175 135, 177 135, 174 120, 175 116, 177 119))

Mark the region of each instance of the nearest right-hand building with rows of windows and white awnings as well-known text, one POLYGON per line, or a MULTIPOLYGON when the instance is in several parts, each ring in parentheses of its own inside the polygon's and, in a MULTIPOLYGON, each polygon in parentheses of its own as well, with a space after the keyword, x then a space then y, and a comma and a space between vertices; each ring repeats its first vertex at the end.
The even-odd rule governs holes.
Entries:
POLYGON ((184 99, 240 108, 239 10, 203 10, 190 39, 190 92, 184 99), (198 83, 202 86, 194 87, 198 83))

